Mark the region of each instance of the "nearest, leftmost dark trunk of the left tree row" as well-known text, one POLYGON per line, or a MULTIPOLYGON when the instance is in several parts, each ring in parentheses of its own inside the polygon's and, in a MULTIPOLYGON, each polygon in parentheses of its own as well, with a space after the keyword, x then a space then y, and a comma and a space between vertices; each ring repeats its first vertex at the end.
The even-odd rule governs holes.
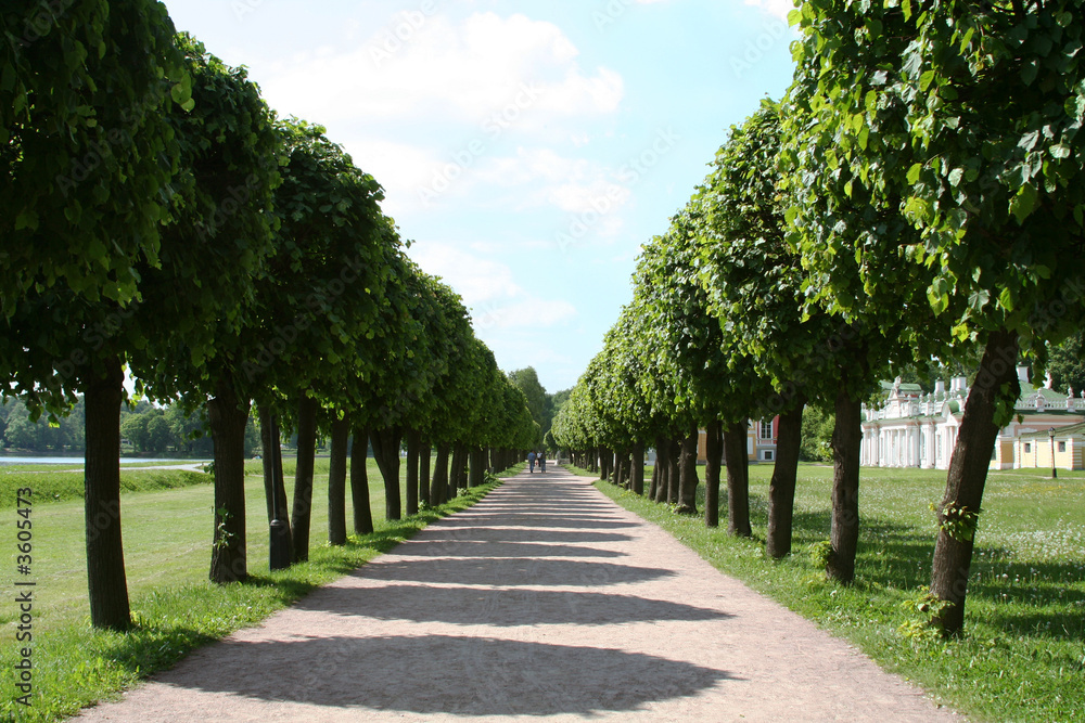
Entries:
POLYGON ((120 360, 105 362, 104 376, 87 386, 85 517, 90 622, 94 628, 131 628, 125 547, 120 537, 120 360))

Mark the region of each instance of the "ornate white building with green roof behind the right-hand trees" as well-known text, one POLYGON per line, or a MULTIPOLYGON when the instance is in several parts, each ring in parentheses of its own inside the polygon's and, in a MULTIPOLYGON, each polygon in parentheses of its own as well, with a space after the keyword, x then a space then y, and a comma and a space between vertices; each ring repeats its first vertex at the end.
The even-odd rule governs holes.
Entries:
MULTIPOLYGON (((1029 370, 1018 369, 1021 397, 1014 418, 998 432, 992 469, 1021 466, 1017 440, 1022 435, 1075 425, 1085 419, 1085 390, 1081 399, 1061 395, 1048 386, 1029 383, 1029 370)), ((956 377, 946 389, 939 382, 934 392, 922 393, 919 385, 883 384, 885 401, 876 408, 863 405, 861 464, 873 467, 921 467, 946 469, 968 399, 968 380, 956 377)), ((1074 459, 1068 456, 1067 459, 1074 459)))

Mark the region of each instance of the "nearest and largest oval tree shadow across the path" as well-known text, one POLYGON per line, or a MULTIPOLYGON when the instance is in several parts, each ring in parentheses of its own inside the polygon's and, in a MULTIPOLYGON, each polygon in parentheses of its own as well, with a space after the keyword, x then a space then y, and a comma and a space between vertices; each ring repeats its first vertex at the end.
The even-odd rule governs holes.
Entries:
POLYGON ((216 666, 184 666, 162 682, 337 708, 588 715, 637 710, 739 680, 638 653, 450 635, 228 641, 215 653, 216 666), (224 669, 237 674, 216 672, 224 669))

